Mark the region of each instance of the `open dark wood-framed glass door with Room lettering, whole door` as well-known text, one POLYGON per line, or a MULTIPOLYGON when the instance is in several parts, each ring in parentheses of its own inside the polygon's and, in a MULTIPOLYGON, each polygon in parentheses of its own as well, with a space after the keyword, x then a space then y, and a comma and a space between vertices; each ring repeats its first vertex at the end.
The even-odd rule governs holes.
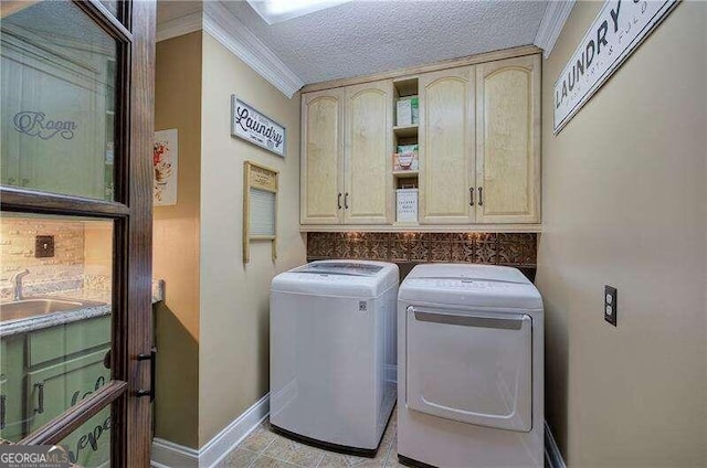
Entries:
POLYGON ((155 10, 0 9, 0 438, 78 466, 149 466, 155 10))

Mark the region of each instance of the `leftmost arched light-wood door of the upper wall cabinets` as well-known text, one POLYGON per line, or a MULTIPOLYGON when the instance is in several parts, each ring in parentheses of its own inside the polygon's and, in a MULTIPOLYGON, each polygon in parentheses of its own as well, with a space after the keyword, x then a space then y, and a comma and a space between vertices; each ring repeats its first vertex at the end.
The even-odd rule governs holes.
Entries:
POLYGON ((339 224, 344 212, 344 89, 302 96, 302 224, 339 224))

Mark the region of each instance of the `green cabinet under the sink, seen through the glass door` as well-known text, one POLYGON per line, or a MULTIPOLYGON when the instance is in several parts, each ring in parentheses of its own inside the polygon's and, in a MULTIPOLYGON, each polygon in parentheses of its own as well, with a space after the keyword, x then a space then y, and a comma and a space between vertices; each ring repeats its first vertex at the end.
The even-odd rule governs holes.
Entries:
MULTIPOLYGON (((108 383, 110 316, 36 330, 0 340, 0 391, 4 427, 17 442, 108 383)), ((99 466, 110 455, 110 411, 91 418, 62 440, 81 466, 99 466)))

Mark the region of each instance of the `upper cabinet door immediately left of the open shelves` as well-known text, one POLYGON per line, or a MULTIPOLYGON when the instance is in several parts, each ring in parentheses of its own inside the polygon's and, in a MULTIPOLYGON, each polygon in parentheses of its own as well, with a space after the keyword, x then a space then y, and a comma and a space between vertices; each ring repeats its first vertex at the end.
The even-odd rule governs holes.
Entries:
POLYGON ((346 88, 347 224, 391 222, 392 102, 391 81, 346 88))

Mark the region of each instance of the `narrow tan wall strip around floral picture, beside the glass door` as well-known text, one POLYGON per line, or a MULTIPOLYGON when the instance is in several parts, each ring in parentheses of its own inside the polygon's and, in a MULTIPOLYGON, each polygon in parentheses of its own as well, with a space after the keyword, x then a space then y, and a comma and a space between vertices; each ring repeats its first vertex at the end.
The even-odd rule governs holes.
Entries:
POLYGON ((177 204, 155 206, 152 276, 165 279, 155 313, 156 436, 198 448, 201 32, 157 44, 155 128, 179 130, 177 204))

